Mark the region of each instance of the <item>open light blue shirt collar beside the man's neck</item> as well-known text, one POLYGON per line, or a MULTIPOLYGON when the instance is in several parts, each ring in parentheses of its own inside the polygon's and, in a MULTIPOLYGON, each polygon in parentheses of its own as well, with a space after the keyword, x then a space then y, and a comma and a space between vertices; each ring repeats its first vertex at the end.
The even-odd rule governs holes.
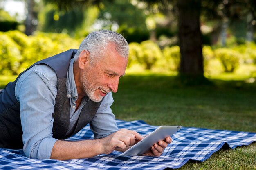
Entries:
POLYGON ((76 89, 76 82, 74 78, 74 71, 73 71, 73 65, 74 65, 74 58, 70 60, 70 66, 67 71, 67 98, 74 98, 78 97, 77 89, 76 89))

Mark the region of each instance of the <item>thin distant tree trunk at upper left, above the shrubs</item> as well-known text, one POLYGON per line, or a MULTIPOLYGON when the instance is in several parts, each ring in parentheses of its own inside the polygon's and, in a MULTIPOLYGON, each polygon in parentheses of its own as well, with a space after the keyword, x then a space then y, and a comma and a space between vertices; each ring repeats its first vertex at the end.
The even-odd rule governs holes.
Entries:
POLYGON ((33 33, 33 25, 32 25, 32 20, 33 20, 33 5, 34 1, 33 0, 27 0, 27 17, 25 21, 25 34, 26 35, 32 35, 33 33))

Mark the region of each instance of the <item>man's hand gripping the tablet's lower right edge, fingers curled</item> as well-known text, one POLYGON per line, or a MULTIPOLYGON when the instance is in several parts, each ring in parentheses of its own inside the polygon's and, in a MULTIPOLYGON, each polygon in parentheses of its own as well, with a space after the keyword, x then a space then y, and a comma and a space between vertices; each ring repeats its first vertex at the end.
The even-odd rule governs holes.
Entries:
POLYGON ((166 137, 165 140, 161 140, 157 142, 157 144, 154 144, 151 147, 151 150, 148 151, 147 153, 144 153, 143 156, 155 156, 159 157, 162 155, 164 149, 167 147, 168 144, 172 142, 171 137, 166 137))

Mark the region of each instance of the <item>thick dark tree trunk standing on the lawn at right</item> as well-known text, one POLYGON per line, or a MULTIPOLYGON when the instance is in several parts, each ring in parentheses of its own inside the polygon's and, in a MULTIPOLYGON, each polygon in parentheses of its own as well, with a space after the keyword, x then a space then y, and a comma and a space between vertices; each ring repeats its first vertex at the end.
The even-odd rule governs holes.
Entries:
POLYGON ((203 77, 202 36, 200 31, 200 0, 178 0, 180 75, 203 77))

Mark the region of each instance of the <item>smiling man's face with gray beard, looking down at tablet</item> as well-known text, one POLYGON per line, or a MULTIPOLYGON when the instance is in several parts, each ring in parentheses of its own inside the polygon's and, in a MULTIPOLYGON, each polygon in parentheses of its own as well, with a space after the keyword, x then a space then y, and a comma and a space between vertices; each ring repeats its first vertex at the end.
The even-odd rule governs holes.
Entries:
POLYGON ((100 102, 108 92, 117 92, 119 78, 124 76, 128 59, 121 57, 112 46, 105 55, 85 68, 81 80, 85 94, 100 102))

